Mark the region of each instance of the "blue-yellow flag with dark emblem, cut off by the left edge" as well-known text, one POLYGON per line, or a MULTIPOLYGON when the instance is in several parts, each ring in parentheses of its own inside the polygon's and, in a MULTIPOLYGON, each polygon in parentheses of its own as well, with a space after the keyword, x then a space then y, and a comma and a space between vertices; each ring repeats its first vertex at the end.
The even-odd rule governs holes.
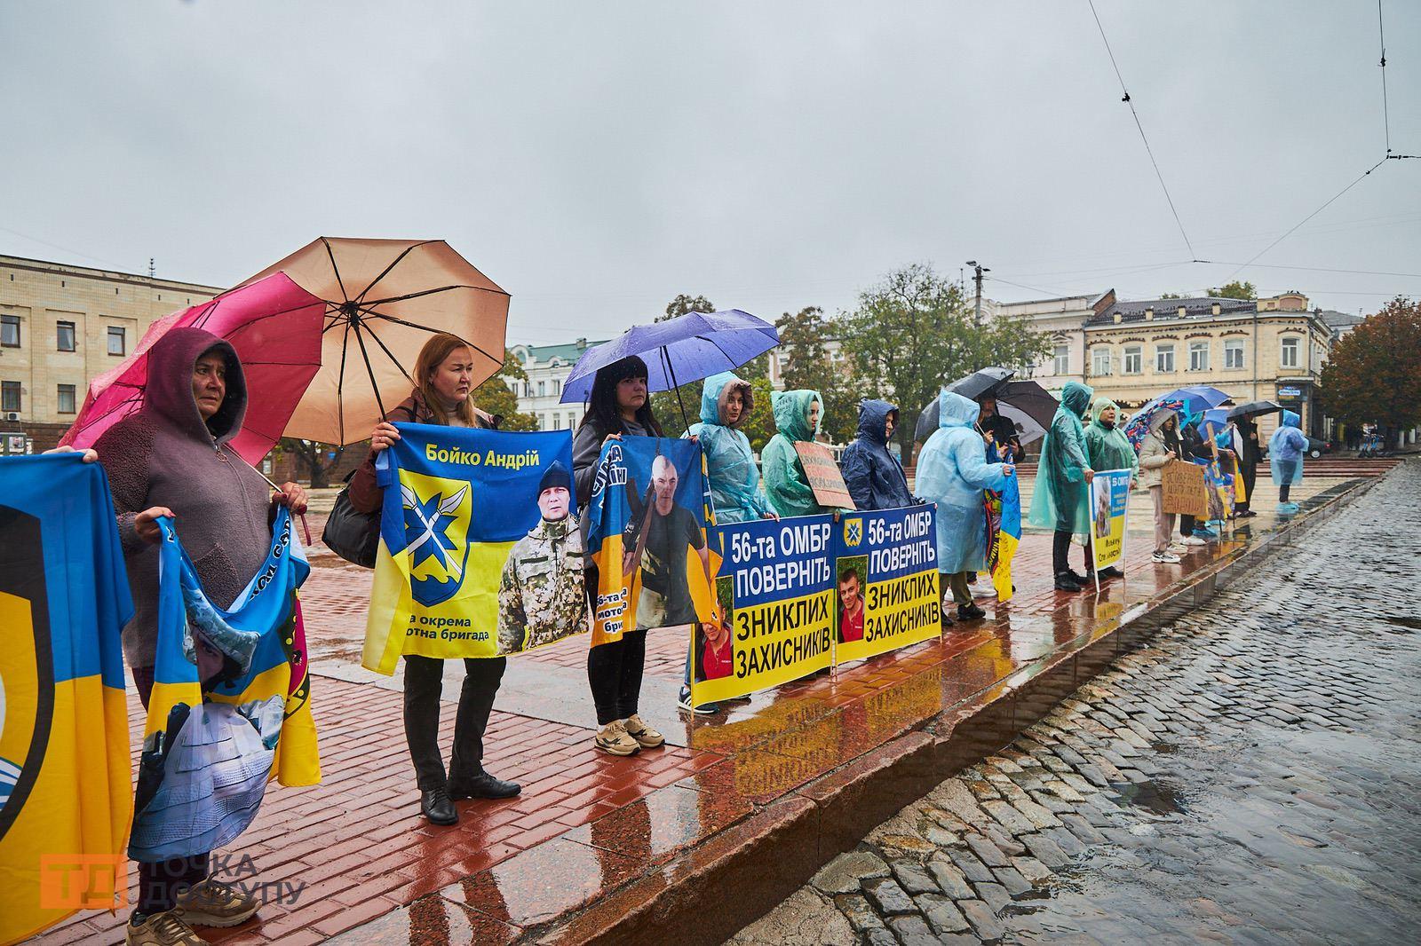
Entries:
POLYGON ((126 892, 132 614, 104 469, 0 459, 0 942, 126 892))

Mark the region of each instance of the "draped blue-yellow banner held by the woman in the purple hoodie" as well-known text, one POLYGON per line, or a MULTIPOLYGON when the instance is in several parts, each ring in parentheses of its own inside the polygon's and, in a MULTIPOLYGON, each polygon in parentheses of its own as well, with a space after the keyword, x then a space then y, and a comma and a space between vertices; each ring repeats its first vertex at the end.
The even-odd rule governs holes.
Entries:
POLYGON ((267 781, 321 780, 297 588, 311 567, 286 509, 230 608, 202 589, 169 518, 158 520, 158 652, 128 854, 206 854, 256 818, 267 781))

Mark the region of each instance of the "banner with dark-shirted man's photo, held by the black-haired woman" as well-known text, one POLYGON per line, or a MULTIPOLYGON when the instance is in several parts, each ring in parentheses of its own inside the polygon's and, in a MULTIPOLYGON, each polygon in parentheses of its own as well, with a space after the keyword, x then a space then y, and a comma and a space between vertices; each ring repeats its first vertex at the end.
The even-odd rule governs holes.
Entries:
POLYGON ((710 621, 710 496, 691 440, 608 440, 588 504, 597 567, 593 646, 642 631, 710 621))

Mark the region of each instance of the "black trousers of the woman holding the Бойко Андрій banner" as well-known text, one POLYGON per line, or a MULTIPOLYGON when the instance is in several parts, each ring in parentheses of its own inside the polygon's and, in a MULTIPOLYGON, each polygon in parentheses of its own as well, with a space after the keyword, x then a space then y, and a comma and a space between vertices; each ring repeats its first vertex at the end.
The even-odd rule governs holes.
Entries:
POLYGON ((445 776, 439 754, 439 695, 443 692, 443 660, 405 656, 405 741, 415 763, 421 791, 443 788, 452 778, 466 781, 483 771, 483 732, 489 727, 493 697, 503 680, 507 658, 469 658, 463 662, 463 689, 453 723, 453 754, 445 776))

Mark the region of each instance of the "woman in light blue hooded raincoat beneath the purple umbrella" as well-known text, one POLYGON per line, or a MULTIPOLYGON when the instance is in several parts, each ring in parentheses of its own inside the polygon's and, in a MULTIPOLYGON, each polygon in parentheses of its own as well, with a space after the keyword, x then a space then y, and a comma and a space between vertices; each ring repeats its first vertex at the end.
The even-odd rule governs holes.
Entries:
POLYGON ((686 430, 706 455, 718 523, 745 523, 770 514, 750 440, 737 429, 753 409, 750 382, 722 371, 706 378, 701 389, 701 422, 686 430))

